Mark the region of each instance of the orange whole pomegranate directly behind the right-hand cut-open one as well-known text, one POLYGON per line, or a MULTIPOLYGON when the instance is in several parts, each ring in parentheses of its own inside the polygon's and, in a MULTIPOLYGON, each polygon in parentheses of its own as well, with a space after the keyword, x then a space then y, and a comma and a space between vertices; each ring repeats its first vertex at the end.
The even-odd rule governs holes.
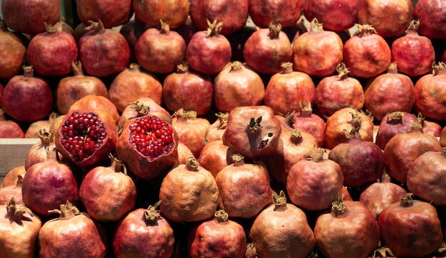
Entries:
POLYGON ((162 86, 155 76, 142 72, 140 65, 133 63, 115 77, 108 89, 108 98, 119 112, 123 112, 128 103, 140 97, 149 97, 156 104, 161 104, 162 86))

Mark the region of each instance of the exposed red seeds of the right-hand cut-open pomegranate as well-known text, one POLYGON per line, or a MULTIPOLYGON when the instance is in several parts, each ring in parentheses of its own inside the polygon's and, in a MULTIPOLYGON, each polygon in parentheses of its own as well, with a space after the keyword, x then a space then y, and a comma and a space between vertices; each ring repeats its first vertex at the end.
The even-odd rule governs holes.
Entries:
POLYGON ((170 154, 175 146, 173 127, 158 117, 142 117, 130 124, 130 143, 144 156, 157 158, 170 154))

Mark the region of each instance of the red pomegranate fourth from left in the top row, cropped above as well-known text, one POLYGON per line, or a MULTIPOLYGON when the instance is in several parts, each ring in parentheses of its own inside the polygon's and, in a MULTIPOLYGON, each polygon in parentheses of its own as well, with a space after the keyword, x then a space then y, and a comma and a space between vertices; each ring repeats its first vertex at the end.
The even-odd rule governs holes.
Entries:
POLYGON ((199 30, 207 28, 207 20, 223 23, 223 35, 239 31, 248 18, 248 0, 192 0, 190 18, 199 30))

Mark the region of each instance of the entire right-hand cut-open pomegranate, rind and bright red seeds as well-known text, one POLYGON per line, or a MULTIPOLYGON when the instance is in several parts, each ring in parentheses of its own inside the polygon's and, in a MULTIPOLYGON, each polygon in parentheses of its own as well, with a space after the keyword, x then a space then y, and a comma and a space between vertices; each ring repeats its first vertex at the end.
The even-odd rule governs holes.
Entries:
POLYGON ((156 114, 149 113, 125 122, 116 154, 135 176, 151 179, 164 174, 177 163, 177 145, 174 127, 156 114))

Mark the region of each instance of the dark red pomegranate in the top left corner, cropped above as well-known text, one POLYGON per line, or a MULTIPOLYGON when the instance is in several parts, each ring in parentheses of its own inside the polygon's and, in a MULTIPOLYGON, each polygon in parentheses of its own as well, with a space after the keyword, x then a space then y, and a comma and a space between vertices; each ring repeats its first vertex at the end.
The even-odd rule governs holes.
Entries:
POLYGON ((45 31, 45 23, 59 21, 61 4, 58 0, 5 0, 1 2, 1 14, 6 26, 12 30, 36 35, 45 31))

